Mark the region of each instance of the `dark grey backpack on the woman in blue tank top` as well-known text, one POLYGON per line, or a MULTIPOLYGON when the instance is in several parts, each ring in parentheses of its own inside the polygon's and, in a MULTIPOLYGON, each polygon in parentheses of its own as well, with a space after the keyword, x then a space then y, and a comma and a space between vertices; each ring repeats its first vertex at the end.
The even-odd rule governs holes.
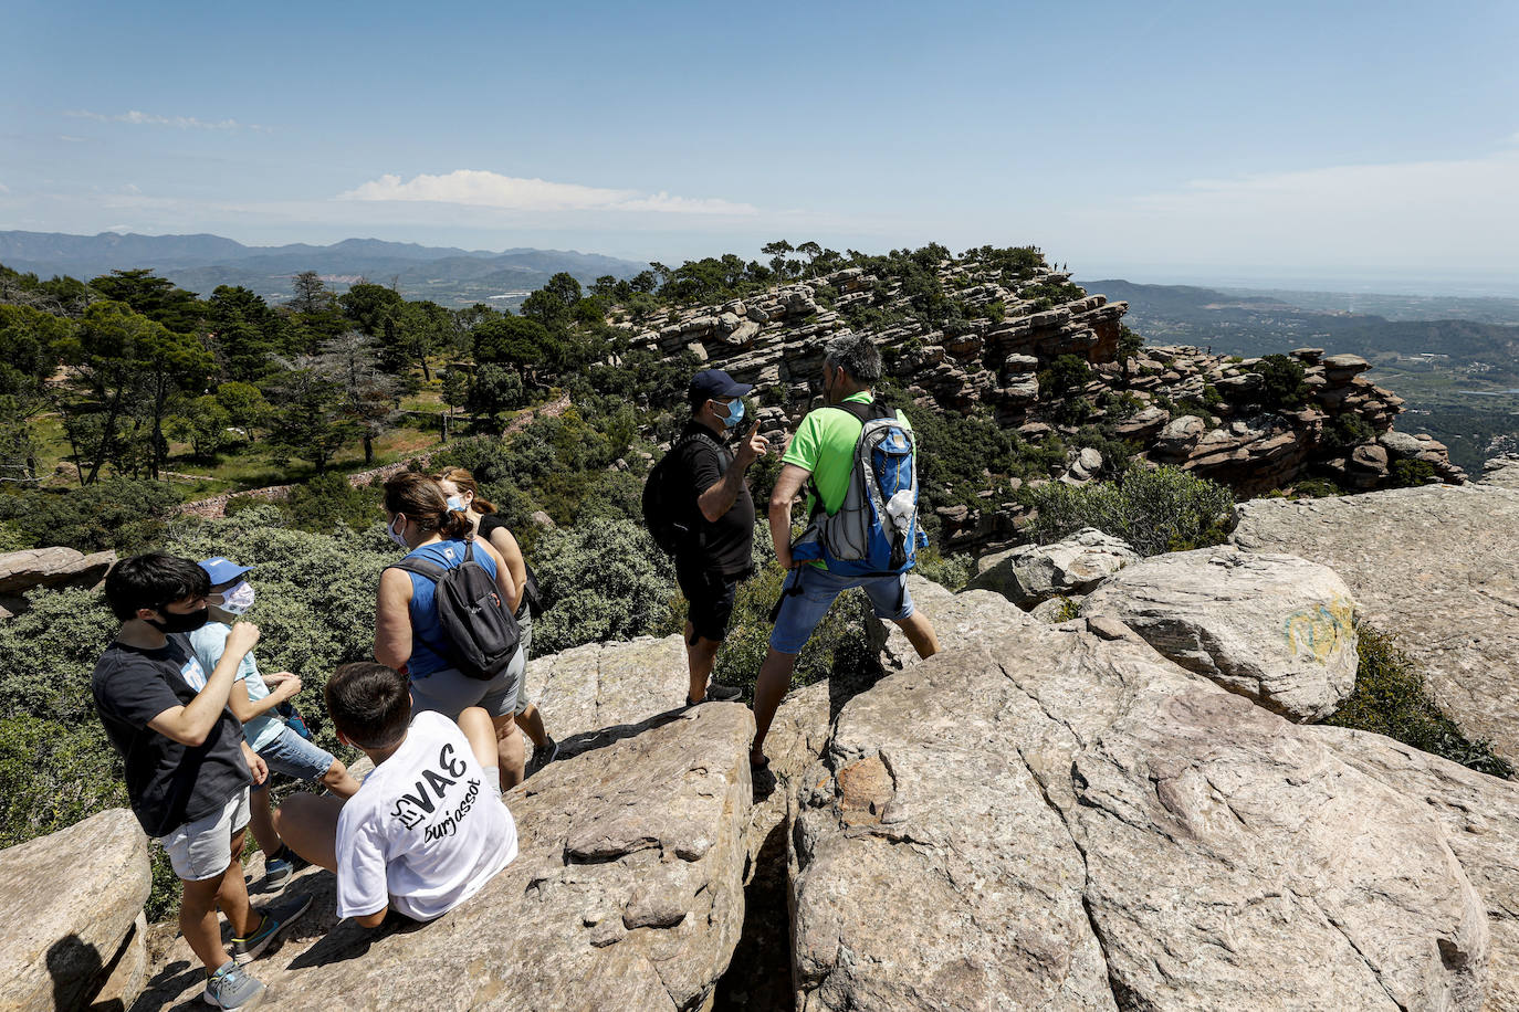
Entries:
POLYGON ((482 681, 506 671, 521 643, 521 630, 501 601, 495 578, 474 560, 472 543, 465 545, 465 558, 453 569, 413 557, 387 569, 403 569, 436 584, 437 625, 454 668, 482 681))

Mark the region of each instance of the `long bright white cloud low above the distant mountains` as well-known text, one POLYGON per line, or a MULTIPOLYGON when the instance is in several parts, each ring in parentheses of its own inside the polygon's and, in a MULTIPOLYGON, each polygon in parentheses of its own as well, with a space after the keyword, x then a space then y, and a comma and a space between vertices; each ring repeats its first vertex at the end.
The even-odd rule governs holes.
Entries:
POLYGON ((459 168, 445 176, 419 174, 407 182, 384 174, 339 200, 419 200, 457 203, 498 211, 653 211, 659 214, 753 215, 758 208, 715 197, 674 197, 668 193, 646 194, 636 190, 582 187, 573 182, 521 179, 494 171, 459 168))

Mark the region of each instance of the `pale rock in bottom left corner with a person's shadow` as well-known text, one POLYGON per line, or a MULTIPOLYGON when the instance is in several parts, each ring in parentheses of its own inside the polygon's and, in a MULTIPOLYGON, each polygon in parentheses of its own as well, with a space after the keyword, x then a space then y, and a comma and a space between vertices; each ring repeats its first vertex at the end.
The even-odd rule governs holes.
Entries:
POLYGON ((0 1009, 131 1004, 149 886, 147 838, 126 809, 0 851, 0 1009))

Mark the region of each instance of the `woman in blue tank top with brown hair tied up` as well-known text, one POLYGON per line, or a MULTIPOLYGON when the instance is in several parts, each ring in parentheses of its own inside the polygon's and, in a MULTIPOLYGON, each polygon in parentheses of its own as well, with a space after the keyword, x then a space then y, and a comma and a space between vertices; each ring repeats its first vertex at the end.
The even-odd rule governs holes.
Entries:
MULTIPOLYGON (((474 558, 492 577, 503 601, 516 599, 512 574, 500 552, 483 540, 472 540, 469 520, 450 510, 437 482, 425 475, 401 473, 384 482, 386 530, 407 557, 425 558, 445 569, 465 560, 472 543, 474 558)), ((380 575, 375 602, 375 660, 404 671, 412 680, 413 713, 436 710, 451 721, 465 707, 485 707, 495 724, 501 760, 501 787, 523 780, 523 736, 516 733, 516 693, 523 684, 526 654, 518 649, 512 663, 482 681, 460 672, 448 660, 448 640, 437 621, 436 587, 427 577, 401 569, 380 575)))

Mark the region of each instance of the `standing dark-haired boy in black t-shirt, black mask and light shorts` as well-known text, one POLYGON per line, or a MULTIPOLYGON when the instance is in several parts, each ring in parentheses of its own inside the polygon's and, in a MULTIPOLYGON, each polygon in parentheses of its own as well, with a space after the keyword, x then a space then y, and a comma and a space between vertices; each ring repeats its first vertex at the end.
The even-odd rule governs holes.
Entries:
POLYGON ((238 663, 258 642, 258 627, 234 625, 216 671, 202 678, 182 634, 205 624, 208 590, 205 570, 187 558, 149 552, 117 563, 105 578, 105 596, 122 628, 100 655, 91 687, 106 736, 126 765, 132 812, 169 851, 184 883, 179 930, 205 963, 204 997, 220 1009, 248 1009, 263 1000, 264 985, 240 965, 311 898, 269 912, 248 903, 237 860, 248 784, 263 783, 269 771, 243 743, 226 696, 238 663), (204 689, 191 687, 202 681, 204 689), (222 947, 217 907, 232 927, 231 957, 222 947))

